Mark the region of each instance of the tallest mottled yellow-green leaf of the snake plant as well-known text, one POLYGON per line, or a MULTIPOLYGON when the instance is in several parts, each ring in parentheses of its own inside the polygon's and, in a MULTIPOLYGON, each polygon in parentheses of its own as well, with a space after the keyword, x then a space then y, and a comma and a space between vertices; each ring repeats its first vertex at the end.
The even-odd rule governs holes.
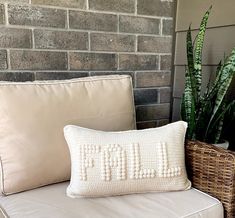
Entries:
POLYGON ((203 42, 206 32, 207 21, 210 15, 212 6, 203 16, 202 22, 200 24, 199 33, 197 35, 197 40, 195 42, 195 51, 194 51, 194 76, 196 79, 196 88, 198 96, 201 92, 201 83, 202 83, 202 49, 203 49, 203 42))

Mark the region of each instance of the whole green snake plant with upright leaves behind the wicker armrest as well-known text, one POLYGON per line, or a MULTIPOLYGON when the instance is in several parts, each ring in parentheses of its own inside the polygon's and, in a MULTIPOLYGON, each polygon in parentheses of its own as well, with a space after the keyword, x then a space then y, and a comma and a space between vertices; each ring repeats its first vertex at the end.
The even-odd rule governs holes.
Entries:
POLYGON ((225 115, 230 113, 231 119, 235 117, 235 100, 226 98, 235 75, 235 47, 231 54, 219 63, 215 81, 209 82, 206 91, 202 92, 202 50, 210 11, 211 7, 201 21, 194 42, 191 26, 187 31, 187 65, 181 117, 188 123, 188 139, 218 143, 221 140, 225 115))

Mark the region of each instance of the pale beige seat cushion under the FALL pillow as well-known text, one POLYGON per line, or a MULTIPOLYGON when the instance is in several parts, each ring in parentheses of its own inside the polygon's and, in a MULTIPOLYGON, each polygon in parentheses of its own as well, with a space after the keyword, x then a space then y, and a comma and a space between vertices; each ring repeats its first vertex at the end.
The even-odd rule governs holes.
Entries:
POLYGON ((196 189, 72 199, 66 196, 67 186, 68 183, 60 183, 0 197, 0 205, 5 213, 5 216, 2 216, 11 218, 223 217, 221 203, 196 189))

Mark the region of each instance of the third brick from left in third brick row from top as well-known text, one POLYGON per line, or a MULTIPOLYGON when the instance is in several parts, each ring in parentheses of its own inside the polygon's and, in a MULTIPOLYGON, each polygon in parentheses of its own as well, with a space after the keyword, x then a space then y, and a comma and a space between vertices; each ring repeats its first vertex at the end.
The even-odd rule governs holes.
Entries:
POLYGON ((91 33, 93 51, 135 51, 135 36, 91 33))

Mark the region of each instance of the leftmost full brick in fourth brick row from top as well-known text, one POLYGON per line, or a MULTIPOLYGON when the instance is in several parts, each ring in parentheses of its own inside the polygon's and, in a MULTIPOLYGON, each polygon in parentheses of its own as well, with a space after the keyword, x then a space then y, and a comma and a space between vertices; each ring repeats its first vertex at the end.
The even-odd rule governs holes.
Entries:
POLYGON ((66 70, 67 53, 50 51, 10 51, 11 68, 15 70, 66 70))

